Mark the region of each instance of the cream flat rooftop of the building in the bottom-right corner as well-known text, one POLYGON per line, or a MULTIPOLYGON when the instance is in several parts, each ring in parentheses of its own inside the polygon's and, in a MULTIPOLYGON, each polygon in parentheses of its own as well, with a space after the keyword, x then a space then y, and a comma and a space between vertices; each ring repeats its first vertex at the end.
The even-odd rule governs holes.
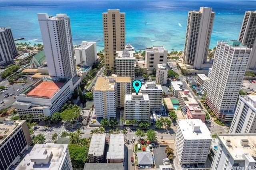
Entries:
POLYGON ((254 158, 256 157, 256 133, 218 134, 217 137, 234 160, 244 160, 242 157, 244 153, 250 154, 254 158), (242 140, 245 141, 244 144, 242 140), (227 141, 230 144, 226 143, 227 141))

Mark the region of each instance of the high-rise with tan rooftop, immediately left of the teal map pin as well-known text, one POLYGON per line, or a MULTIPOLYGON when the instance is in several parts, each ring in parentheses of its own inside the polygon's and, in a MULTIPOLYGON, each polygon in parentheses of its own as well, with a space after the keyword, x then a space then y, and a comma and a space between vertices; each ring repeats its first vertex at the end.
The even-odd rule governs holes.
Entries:
POLYGON ((124 97, 130 91, 130 77, 98 77, 93 90, 95 115, 108 119, 115 118, 116 107, 124 108, 124 97))

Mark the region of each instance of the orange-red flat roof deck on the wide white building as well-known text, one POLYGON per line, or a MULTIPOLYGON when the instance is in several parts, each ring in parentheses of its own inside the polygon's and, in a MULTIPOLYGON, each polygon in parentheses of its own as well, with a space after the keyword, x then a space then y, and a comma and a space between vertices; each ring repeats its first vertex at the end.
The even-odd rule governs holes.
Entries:
POLYGON ((43 81, 27 93, 26 97, 51 99, 64 84, 65 83, 57 83, 53 81, 43 81))

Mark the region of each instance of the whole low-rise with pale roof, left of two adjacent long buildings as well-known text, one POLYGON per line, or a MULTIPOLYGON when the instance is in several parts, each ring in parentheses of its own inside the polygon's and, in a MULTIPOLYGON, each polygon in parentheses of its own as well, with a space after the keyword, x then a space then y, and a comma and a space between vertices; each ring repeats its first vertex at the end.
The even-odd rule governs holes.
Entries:
POLYGON ((88 161, 90 163, 101 163, 104 159, 106 134, 92 134, 88 151, 88 161))

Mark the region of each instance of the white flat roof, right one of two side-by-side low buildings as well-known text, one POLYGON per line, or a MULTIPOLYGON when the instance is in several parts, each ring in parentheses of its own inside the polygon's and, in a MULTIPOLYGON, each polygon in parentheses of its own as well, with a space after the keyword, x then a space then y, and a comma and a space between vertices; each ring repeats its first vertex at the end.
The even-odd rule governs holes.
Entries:
POLYGON ((107 159, 124 159, 124 134, 110 134, 107 159))

